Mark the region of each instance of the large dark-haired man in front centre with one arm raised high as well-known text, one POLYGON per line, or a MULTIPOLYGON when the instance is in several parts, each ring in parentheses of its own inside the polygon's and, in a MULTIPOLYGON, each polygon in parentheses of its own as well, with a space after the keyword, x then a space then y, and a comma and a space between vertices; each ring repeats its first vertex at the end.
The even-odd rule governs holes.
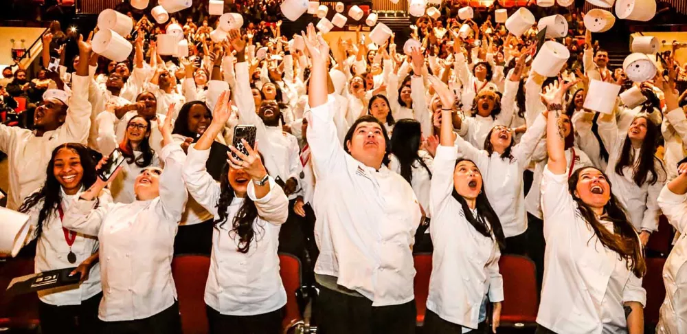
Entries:
POLYGON ((328 334, 414 333, 420 204, 407 181, 383 165, 389 140, 381 121, 359 118, 341 147, 327 94, 329 47, 312 23, 304 39, 313 63, 306 118, 320 250, 313 317, 328 334))

